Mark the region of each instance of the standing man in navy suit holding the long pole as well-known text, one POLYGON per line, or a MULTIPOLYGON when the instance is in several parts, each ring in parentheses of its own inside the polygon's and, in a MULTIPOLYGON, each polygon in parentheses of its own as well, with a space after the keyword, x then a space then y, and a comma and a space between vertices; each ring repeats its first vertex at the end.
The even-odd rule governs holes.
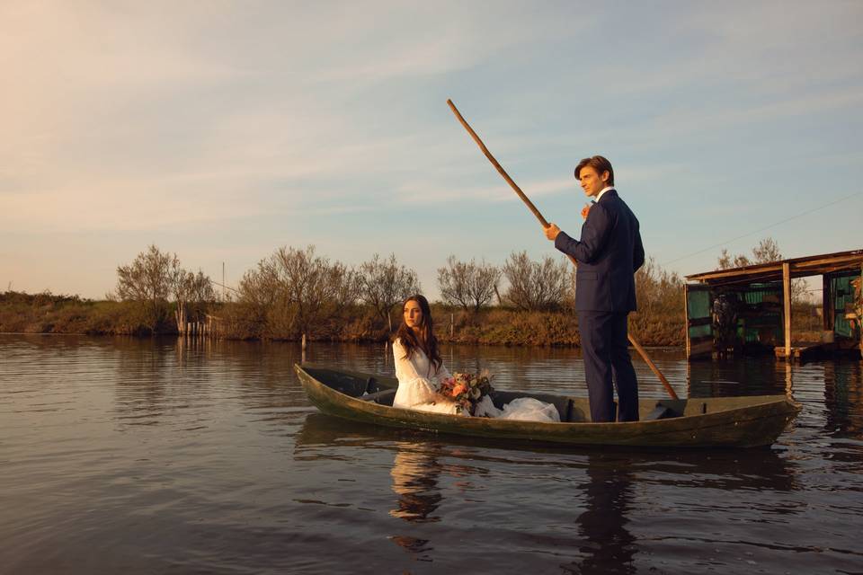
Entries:
POLYGON ((580 240, 554 224, 546 237, 578 261, 575 311, 582 336, 584 375, 593 421, 614 420, 614 383, 618 387, 618 421, 638 420, 638 382, 629 358, 627 315, 636 311, 635 272, 645 262, 638 220, 614 189, 614 170, 601 155, 575 166, 575 179, 592 206, 580 240))

